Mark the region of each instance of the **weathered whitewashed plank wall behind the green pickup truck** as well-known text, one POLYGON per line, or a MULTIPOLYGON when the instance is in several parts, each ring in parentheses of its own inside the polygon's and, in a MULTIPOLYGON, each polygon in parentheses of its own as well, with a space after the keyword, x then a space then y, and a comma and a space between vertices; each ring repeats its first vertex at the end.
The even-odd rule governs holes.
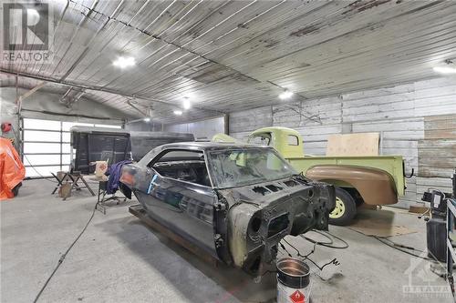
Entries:
POLYGON ((304 137, 306 154, 325 155, 331 134, 379 132, 382 154, 402 155, 406 172, 415 169, 398 205, 409 207, 428 187, 449 187, 456 167, 454 114, 456 79, 447 77, 232 113, 230 134, 245 138, 262 126, 293 127, 304 137))

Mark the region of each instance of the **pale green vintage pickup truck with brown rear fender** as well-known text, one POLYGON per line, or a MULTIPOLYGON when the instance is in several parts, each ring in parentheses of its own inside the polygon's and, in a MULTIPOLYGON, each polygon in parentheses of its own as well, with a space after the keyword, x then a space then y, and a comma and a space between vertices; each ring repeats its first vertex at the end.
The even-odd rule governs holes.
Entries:
MULTIPOLYGON (((212 140, 233 142, 231 136, 219 134, 212 140)), ((347 225, 355 217, 357 207, 398 203, 406 182, 401 156, 325 157, 306 156, 302 136, 287 127, 264 127, 255 130, 248 142, 274 146, 296 170, 306 177, 336 186, 336 208, 329 223, 347 225)))

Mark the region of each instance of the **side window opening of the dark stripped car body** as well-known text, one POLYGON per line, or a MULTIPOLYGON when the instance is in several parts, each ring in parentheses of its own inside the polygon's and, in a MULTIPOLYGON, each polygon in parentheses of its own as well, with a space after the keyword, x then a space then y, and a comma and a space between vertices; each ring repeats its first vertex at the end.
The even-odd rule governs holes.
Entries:
POLYGON ((200 151, 167 151, 152 163, 152 168, 163 177, 211 187, 204 155, 200 151))

